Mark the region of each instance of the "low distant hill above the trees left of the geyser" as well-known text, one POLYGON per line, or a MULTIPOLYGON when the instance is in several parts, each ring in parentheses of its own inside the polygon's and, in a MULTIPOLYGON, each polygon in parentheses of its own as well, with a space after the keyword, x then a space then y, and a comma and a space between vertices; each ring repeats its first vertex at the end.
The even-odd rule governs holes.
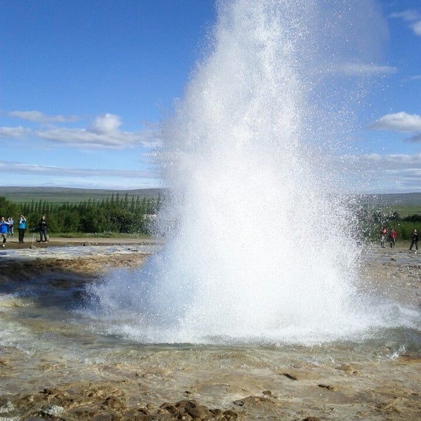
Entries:
POLYGON ((163 194, 163 189, 134 189, 134 190, 108 190, 108 189, 73 189, 70 187, 1 187, 0 196, 13 203, 30 203, 32 201, 48 201, 51 203, 79 203, 91 199, 102 201, 119 194, 123 199, 126 194, 131 200, 140 197, 156 198, 163 194))

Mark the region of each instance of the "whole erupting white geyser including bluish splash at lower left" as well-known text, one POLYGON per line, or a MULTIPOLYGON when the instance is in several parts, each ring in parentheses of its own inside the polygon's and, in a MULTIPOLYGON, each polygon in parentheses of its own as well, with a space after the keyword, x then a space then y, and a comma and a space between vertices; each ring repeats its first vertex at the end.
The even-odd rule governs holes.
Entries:
POLYGON ((356 49, 347 13, 368 2, 336 3, 220 4, 209 51, 163 124, 166 245, 139 272, 114 272, 93 290, 114 332, 308 343, 363 328, 352 215, 323 153, 349 118, 333 109, 351 99, 326 73, 356 49))

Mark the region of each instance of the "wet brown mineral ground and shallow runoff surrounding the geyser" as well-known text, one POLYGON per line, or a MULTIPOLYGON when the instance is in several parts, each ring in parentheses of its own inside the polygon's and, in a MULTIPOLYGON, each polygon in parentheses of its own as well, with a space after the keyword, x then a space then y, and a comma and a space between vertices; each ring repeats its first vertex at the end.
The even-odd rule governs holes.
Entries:
MULTIPOLYGON (((420 419, 417 327, 309 347, 142 345, 92 328, 77 311, 86 283, 155 247, 0 255, 0 420, 420 419)), ((403 247, 369 246, 359 290, 419 315, 420 268, 403 247)))

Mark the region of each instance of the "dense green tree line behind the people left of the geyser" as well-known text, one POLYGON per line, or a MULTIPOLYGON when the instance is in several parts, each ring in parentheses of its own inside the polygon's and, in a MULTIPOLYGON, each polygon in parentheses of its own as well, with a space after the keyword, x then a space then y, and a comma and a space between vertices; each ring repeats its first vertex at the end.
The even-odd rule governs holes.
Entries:
POLYGON ((79 203, 51 203, 31 201, 13 203, 0 197, 0 211, 4 218, 16 221, 22 213, 27 229, 37 231, 41 215, 46 215, 49 233, 119 233, 147 234, 150 222, 161 205, 161 197, 140 196, 122 198, 112 194, 102 201, 87 199, 79 203))

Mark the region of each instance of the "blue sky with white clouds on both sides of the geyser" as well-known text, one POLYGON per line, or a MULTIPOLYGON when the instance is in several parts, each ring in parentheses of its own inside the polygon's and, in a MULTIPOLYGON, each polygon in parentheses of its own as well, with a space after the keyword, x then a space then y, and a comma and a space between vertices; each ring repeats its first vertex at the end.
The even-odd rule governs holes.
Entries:
MULTIPOLYGON (((385 37, 358 69, 377 76, 338 159, 363 192, 421 192, 421 1, 377 4, 385 37)), ((157 128, 215 18, 212 0, 0 0, 2 184, 161 186, 157 128)))

